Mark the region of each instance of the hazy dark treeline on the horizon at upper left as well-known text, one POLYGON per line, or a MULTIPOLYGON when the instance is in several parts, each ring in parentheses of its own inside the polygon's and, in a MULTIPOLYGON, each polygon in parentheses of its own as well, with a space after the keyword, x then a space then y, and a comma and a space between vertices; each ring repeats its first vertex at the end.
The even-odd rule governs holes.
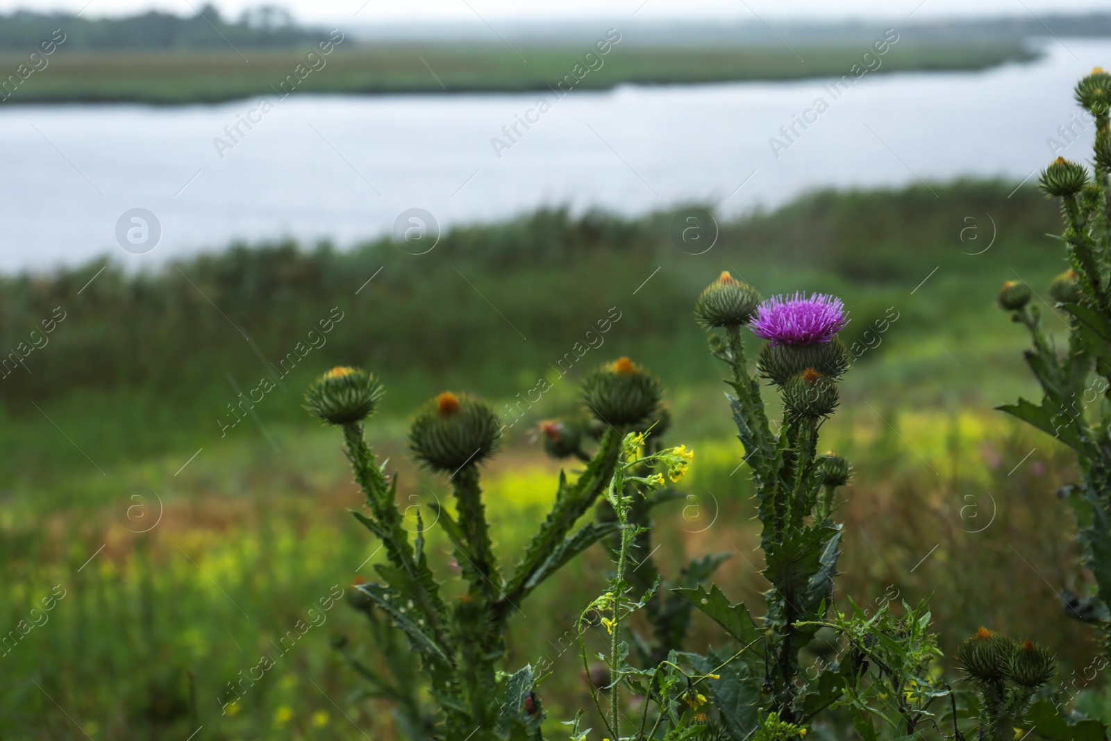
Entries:
POLYGON ((18 10, 0 14, 0 52, 38 49, 54 29, 66 33, 67 51, 289 48, 314 43, 319 36, 296 26, 288 12, 270 6, 244 11, 236 21, 221 18, 211 4, 184 18, 157 11, 126 18, 84 18, 18 10))

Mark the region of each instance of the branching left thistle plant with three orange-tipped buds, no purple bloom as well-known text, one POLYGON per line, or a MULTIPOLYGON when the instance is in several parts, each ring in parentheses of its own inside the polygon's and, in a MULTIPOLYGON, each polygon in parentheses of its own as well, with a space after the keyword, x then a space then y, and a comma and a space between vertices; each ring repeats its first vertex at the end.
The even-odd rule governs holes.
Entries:
MULTIPOLYGON (((623 372, 623 364, 615 366, 609 371, 613 378, 597 382, 595 398, 623 403, 625 413, 620 417, 642 421, 657 411, 662 388, 639 369, 623 372), (612 383, 607 385, 605 380, 612 383)), ((500 442, 497 415, 484 402, 450 392, 426 405, 413 421, 409 441, 417 461, 448 474, 456 501, 454 513, 432 508, 432 521, 443 528, 468 585, 464 594, 449 602, 426 554, 426 518, 418 511, 416 531, 410 533, 397 503, 397 477, 387 474, 363 438, 363 420, 381 393, 371 374, 343 368, 324 374, 306 395, 311 413, 343 431, 348 459, 367 500, 366 510, 352 514, 382 542, 386 557, 374 565, 380 581, 357 584, 349 601, 367 617, 388 671, 359 660, 343 637, 336 645, 368 681, 371 697, 396 704, 399 723, 412 738, 457 741, 474 734, 474 741, 539 741, 546 717, 534 692, 539 678, 531 665, 503 671, 507 623, 541 583, 617 532, 615 522, 580 527, 580 520, 610 483, 627 430, 607 428, 574 482, 560 475, 551 511, 520 560, 507 568, 499 563, 490 539, 480 485, 480 463, 500 442)), ((668 471, 681 467, 675 460, 668 471)))

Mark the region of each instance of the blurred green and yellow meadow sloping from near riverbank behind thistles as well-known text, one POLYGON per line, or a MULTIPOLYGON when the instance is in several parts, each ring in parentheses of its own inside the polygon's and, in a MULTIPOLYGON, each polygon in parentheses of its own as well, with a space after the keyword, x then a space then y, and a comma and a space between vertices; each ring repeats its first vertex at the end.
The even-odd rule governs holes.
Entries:
MULTIPOLYGON (((730 553, 718 583, 734 601, 758 599, 751 483, 691 317, 723 269, 764 296, 834 292, 852 317, 845 340, 859 358, 821 443, 855 465, 838 518, 850 543, 842 593, 931 598, 947 654, 979 624, 1034 633, 1071 679, 1098 652, 1055 593, 1084 580, 1054 497, 1075 475, 1071 457, 992 409, 1037 391, 1018 362, 1021 328, 993 306, 999 286, 1019 276, 1041 291, 1063 269, 1044 237, 1055 207, 1013 188, 813 193, 721 222, 701 254, 672 237, 681 210, 553 210, 454 229, 424 256, 389 239, 342 252, 234 246, 151 273, 106 258, 0 279, 0 348, 20 352, 66 312, 0 379, 0 625, 54 595, 42 624, 0 655, 0 735, 397 738, 388 705, 330 648, 347 635, 373 662, 362 615, 344 597, 307 618, 381 558, 346 511, 360 497, 338 437, 300 409, 308 381, 338 363, 386 382, 368 434, 412 504, 446 495, 407 459, 416 404, 467 390, 513 421, 486 474, 503 558, 524 547, 516 524, 542 517, 554 491, 559 464, 537 423, 577 408, 589 368, 619 354, 644 363, 669 388, 668 441, 695 450, 685 498, 658 517, 657 560, 668 572, 684 552, 730 553), (604 318, 610 329, 591 340, 604 318), (520 404, 541 378, 551 390, 520 404), (258 399, 266 385, 241 405, 241 392, 258 399), (224 712, 229 682, 262 654, 274 668, 224 712)), ((449 551, 442 531, 429 537, 432 552, 449 551)), ((510 623, 511 665, 553 662, 540 688, 553 738, 589 701, 563 637, 607 558, 588 551, 510 623)), ((704 644, 713 632, 700 620, 704 644)), ((1089 690, 1081 702, 1101 707, 1100 687, 1089 690)))

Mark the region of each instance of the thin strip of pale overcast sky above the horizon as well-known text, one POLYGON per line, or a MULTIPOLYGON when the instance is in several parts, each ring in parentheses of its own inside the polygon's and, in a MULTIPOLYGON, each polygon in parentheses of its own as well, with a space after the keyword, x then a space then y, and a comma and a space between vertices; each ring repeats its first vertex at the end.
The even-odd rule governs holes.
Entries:
MULTIPOLYGON (((192 14, 203 0, 0 0, 0 9, 84 10, 90 16, 118 16, 151 8, 192 14)), ((236 17, 257 0, 214 0, 236 17)), ((1049 12, 1107 10, 1107 0, 286 0, 273 2, 310 23, 389 21, 572 20, 632 16, 638 20, 665 18, 818 20, 845 18, 914 18, 945 16, 1039 16, 1049 12)))

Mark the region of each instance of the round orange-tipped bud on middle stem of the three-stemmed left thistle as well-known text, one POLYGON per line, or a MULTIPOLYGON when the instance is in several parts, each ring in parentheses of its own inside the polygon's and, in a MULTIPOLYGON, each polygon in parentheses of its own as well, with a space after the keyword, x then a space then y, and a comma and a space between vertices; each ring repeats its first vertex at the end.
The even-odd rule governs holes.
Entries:
POLYGON ((498 415, 484 401, 444 391, 413 420, 409 447, 433 471, 454 473, 498 449, 499 428, 498 415))

